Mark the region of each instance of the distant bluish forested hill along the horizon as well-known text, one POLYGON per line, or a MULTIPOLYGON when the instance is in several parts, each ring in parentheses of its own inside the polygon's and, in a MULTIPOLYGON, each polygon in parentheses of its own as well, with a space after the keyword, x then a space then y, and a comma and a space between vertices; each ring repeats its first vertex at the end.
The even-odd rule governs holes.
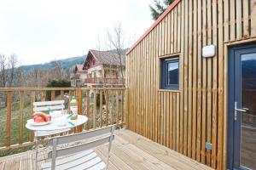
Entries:
MULTIPOLYGON (((67 58, 67 59, 58 59, 55 60, 59 63, 61 63, 61 67, 65 70, 69 69, 72 65, 82 65, 84 64, 85 60, 85 55, 84 56, 79 56, 79 57, 72 57, 72 58, 67 58)), ((39 65, 23 65, 22 68, 25 72, 29 72, 32 69, 48 69, 51 68, 51 62, 44 63, 44 64, 39 64, 39 65)))

